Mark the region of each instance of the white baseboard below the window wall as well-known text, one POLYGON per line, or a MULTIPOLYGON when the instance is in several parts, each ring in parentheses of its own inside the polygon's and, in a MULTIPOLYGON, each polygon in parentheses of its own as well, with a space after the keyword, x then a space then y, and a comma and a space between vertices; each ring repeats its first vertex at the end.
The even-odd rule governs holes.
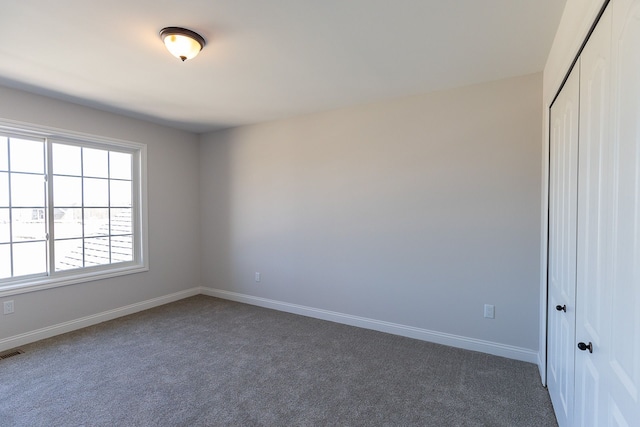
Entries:
POLYGON ((58 323, 57 325, 47 326, 46 328, 37 329, 35 331, 26 332, 24 334, 0 339, 0 351, 20 347, 21 345, 29 344, 45 338, 50 338, 55 335, 60 335, 67 332, 75 331, 77 329, 86 328, 87 326, 106 322, 107 320, 112 320, 117 317, 126 316, 128 314, 137 313, 138 311, 148 310, 150 308, 178 301, 183 298, 198 295, 202 293, 201 290, 202 288, 200 287, 191 288, 187 289, 186 291, 164 295, 158 298, 126 305, 124 307, 119 307, 113 310, 103 311, 102 313, 93 314, 91 316, 81 317, 79 319, 71 320, 68 322, 58 323))

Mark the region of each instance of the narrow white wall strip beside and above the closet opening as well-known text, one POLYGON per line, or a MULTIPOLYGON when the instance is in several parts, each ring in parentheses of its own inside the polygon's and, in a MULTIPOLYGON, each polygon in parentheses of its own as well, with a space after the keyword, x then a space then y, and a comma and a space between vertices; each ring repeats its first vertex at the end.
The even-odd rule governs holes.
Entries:
POLYGON ((538 367, 546 384, 546 313, 547 313, 547 229, 549 188, 549 108, 569 72, 571 64, 586 39, 605 0, 567 0, 560 25, 553 40, 543 72, 542 96, 542 201, 540 234, 540 358, 538 367))

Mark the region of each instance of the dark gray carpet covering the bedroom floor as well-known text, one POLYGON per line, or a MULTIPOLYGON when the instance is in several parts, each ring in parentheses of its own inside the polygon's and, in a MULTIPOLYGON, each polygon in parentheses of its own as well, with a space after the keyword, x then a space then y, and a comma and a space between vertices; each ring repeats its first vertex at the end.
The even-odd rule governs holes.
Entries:
POLYGON ((0 361, 3 426, 555 426, 537 368, 196 296, 0 361))

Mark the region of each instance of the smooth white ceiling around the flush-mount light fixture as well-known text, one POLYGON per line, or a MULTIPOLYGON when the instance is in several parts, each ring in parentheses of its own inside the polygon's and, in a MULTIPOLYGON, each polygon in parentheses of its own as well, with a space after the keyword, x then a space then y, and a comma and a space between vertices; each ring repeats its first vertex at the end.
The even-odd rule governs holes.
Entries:
POLYGON ((0 0, 0 84, 201 133, 541 71, 564 4, 0 0))

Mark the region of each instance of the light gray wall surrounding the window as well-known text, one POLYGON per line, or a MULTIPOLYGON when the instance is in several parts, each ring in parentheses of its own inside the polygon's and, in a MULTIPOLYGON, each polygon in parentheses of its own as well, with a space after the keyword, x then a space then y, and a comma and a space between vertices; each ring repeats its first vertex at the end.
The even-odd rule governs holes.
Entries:
POLYGON ((0 100, 3 119, 147 144, 150 256, 148 272, 0 298, 15 302, 0 314, 0 350, 198 292, 196 135, 6 87, 0 100))

